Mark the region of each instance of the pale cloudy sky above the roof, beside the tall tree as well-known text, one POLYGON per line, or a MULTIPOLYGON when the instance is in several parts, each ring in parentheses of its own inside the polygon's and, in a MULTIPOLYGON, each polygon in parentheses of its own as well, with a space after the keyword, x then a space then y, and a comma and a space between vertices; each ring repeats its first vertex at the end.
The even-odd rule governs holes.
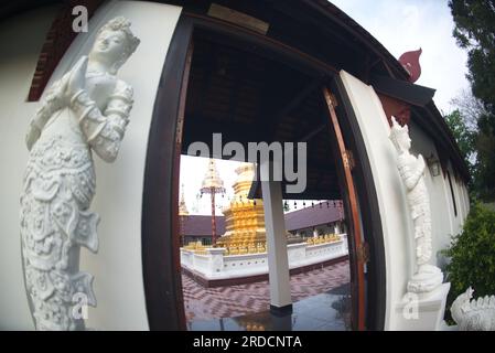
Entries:
POLYGON ((416 84, 435 88, 433 100, 448 114, 450 100, 467 89, 467 54, 452 36, 454 22, 446 0, 333 0, 395 57, 422 49, 416 84))

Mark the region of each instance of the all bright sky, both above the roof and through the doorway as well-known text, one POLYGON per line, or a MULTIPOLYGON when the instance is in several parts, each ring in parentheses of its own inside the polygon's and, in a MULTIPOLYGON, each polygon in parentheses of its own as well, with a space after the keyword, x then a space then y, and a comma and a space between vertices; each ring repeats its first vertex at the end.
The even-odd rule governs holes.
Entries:
MULTIPOLYGON (((333 0, 395 57, 408 51, 422 49, 421 77, 418 85, 435 88, 433 100, 448 114, 453 110, 450 100, 469 88, 466 53, 459 49, 452 36, 454 23, 446 0, 333 0)), ((218 211, 233 195, 237 162, 217 161, 227 194, 218 202, 218 211)), ((207 159, 182 157, 181 184, 185 202, 192 214, 211 214, 209 196, 198 196, 207 159)), ((291 203, 292 205, 292 203, 291 203)), ((298 210, 302 205, 298 205, 298 210)))

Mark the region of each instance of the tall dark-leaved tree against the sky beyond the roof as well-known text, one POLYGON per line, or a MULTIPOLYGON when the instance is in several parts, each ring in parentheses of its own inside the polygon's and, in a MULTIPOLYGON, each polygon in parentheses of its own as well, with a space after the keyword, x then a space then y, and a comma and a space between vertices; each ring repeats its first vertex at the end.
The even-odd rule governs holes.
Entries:
POLYGON ((450 0, 458 44, 467 50, 467 78, 485 111, 477 117, 475 188, 495 200, 495 0, 450 0))

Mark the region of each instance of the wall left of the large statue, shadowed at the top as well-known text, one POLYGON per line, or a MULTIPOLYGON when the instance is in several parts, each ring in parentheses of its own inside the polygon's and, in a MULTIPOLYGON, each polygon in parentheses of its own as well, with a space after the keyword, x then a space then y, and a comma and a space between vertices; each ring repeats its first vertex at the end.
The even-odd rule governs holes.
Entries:
POLYGON ((0 330, 33 329, 20 257, 19 196, 28 160, 24 135, 37 105, 25 99, 56 10, 0 23, 0 330))

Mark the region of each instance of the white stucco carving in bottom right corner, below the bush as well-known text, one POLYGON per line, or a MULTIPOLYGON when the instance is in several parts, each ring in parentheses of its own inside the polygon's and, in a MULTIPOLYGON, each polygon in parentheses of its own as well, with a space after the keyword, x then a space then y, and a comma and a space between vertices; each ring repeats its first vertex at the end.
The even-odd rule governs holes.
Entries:
POLYGON ((450 309, 460 331, 495 331, 495 296, 471 300, 474 290, 470 287, 460 295, 450 309))

